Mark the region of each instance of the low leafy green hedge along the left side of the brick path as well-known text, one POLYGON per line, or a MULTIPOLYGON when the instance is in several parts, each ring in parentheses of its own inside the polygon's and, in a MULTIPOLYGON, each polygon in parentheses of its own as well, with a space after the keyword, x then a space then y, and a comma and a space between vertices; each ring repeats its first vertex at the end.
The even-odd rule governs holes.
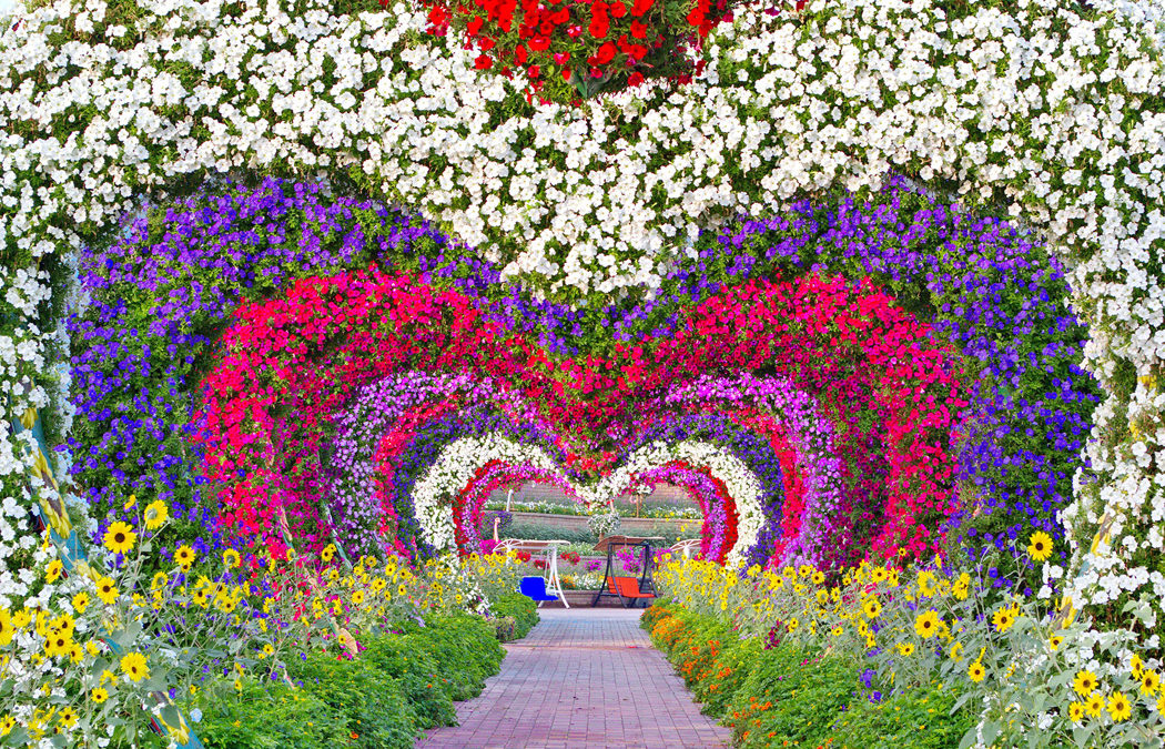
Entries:
MULTIPOLYGON (((511 616, 529 621, 520 602, 503 601, 511 616)), ((303 653, 288 664, 295 686, 220 680, 184 711, 197 716, 192 728, 209 749, 412 747, 425 728, 457 723, 453 702, 478 695, 506 651, 494 623, 480 616, 435 617, 402 630, 361 637, 354 658, 303 653)))

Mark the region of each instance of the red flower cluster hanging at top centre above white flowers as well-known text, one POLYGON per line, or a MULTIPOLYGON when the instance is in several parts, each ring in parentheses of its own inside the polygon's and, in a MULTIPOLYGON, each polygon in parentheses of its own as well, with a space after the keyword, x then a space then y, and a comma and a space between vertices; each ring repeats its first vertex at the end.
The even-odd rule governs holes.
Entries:
MULTIPOLYGON (((525 71, 528 98, 578 101, 647 78, 690 82, 685 49, 723 20, 732 0, 425 0, 430 33, 464 34, 478 70, 525 71), (668 19, 685 17, 675 28, 668 19)), ((699 61, 702 63, 702 61, 699 61)))

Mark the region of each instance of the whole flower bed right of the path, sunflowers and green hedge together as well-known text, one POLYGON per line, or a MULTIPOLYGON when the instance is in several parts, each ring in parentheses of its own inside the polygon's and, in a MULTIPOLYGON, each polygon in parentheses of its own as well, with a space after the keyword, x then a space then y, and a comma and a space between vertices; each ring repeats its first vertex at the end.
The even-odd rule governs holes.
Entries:
MULTIPOLYGON (((1050 537, 1024 553, 1046 558, 1050 537)), ((1151 645, 967 571, 673 561, 655 579, 643 627, 742 747, 1124 747, 1165 730, 1151 645)))

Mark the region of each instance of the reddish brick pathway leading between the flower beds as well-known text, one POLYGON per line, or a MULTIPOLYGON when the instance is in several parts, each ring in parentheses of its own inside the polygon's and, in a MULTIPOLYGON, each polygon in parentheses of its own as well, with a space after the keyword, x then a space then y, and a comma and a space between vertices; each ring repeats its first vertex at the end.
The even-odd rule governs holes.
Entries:
POLYGON ((543 609, 461 725, 428 732, 424 749, 673 749, 727 747, 640 629, 640 610, 543 609))

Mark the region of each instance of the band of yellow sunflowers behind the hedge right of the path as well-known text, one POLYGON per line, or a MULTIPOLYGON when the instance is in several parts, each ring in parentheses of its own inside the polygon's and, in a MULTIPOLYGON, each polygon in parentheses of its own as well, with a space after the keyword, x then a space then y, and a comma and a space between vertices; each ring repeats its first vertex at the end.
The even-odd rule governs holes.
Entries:
MULTIPOLYGON (((1051 547, 1052 539, 1037 532, 1028 552, 1040 561, 1051 547)), ((1086 624, 1071 614, 1048 617, 1048 603, 1001 593, 991 580, 949 570, 942 559, 913 571, 863 561, 833 573, 669 559, 656 584, 694 613, 730 619, 747 636, 792 638, 868 657, 896 687, 955 679, 984 699, 994 695, 988 704, 1010 705, 1031 679, 1044 679, 1051 685, 1051 704, 1071 719, 1066 726, 1103 718, 1107 730, 1151 723, 1165 732, 1162 677, 1138 656, 1127 665, 1129 676, 1114 676, 1109 686, 1087 670, 1067 687, 1055 686, 1061 684, 1055 674, 1067 669, 1065 643, 1073 643, 1073 633, 1086 624)), ((1000 719, 1017 725, 1005 715, 1000 719)), ((1071 741, 1071 726, 1061 735, 1071 741)))

